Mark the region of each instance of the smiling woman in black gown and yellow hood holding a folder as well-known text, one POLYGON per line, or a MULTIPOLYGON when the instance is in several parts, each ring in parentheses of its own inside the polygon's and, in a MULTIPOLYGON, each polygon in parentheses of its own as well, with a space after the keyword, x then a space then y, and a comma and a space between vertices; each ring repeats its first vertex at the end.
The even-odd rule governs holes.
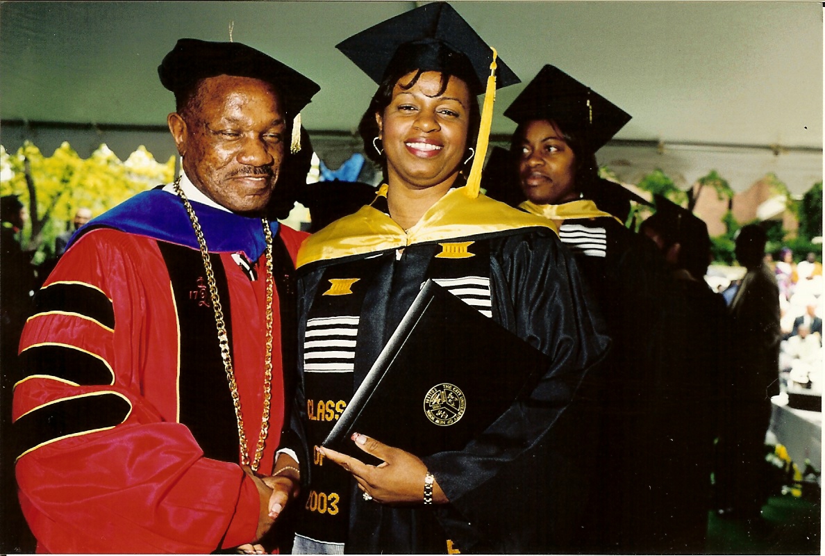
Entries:
MULTIPOLYGON (((608 340, 587 311, 573 260, 552 224, 479 196, 483 152, 469 178, 460 175, 472 154, 476 95, 485 80, 479 150, 486 149, 493 50, 444 3, 384 21, 338 48, 380 83, 361 131, 387 183, 372 205, 318 232, 300 256, 302 388, 282 437, 299 461, 283 455, 276 465, 300 470, 295 549, 540 551, 530 532, 500 529, 502 507, 532 490, 529 477, 505 482, 502 472, 553 425, 608 340), (421 459, 363 435, 352 441, 383 465, 316 451, 338 407, 322 413, 320 403, 346 405, 429 278, 549 354, 539 385, 460 451, 421 459), (571 298, 579 310, 571 311, 571 298)), ((500 85, 516 82, 500 60, 496 74, 500 85)), ((388 418, 404 426, 404 416, 388 418)), ((273 513, 289 494, 273 496, 273 513)))

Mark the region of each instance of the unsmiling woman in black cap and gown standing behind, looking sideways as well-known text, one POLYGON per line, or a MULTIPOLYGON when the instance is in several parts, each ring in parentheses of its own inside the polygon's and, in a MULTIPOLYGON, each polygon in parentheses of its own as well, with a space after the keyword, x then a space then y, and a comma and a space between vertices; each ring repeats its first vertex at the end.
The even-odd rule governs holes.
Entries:
POLYGON ((573 551, 691 552, 668 485, 691 454, 663 425, 683 393, 685 307, 657 249, 625 227, 630 201, 645 201, 597 175, 596 151, 630 116, 551 65, 504 114, 518 124, 520 207, 559 225, 613 340, 549 437, 566 458, 550 470, 552 484, 576 489, 557 492, 569 503, 554 506, 556 539, 573 551))

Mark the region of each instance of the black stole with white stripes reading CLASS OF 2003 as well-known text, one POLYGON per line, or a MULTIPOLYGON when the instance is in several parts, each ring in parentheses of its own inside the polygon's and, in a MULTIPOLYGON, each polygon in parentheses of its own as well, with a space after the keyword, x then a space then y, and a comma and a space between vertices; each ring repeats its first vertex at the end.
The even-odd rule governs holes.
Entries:
MULTIPOLYGON (((332 430, 358 383, 428 278, 484 315, 492 316, 489 250, 488 240, 412 245, 404 249, 403 257, 392 251, 334 264, 323 271, 304 335, 304 397, 312 453, 314 445, 320 444, 332 430)), ((403 426, 403 420, 399 420, 399 426, 403 426)), ((327 543, 346 543, 351 503, 359 506, 359 512, 394 511, 375 502, 361 502, 360 498, 351 501, 349 473, 317 454, 313 458, 299 535, 327 543), (362 504, 369 507, 361 507, 362 504)), ((365 454, 364 461, 368 459, 365 454)), ((438 528, 434 518, 428 521, 438 528)), ((421 530, 432 531, 429 526, 421 530)), ((444 539, 420 542, 439 552, 446 546, 444 539)))

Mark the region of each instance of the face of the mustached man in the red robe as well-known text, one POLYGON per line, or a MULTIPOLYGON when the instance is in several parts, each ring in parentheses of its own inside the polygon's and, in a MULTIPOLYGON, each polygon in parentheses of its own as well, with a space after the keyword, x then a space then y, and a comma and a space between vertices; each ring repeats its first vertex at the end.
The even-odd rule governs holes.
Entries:
POLYGON ((281 100, 270 83, 205 78, 183 114, 167 120, 186 176, 206 197, 235 212, 266 207, 286 133, 281 100))

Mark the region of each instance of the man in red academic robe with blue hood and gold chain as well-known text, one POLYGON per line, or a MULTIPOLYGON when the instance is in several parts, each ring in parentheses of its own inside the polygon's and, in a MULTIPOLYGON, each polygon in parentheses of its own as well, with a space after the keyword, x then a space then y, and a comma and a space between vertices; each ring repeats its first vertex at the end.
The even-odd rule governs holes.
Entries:
POLYGON ((179 40, 175 183, 84 226, 21 338, 16 478, 39 552, 209 553, 262 539, 295 364, 304 235, 262 218, 318 86, 179 40))

